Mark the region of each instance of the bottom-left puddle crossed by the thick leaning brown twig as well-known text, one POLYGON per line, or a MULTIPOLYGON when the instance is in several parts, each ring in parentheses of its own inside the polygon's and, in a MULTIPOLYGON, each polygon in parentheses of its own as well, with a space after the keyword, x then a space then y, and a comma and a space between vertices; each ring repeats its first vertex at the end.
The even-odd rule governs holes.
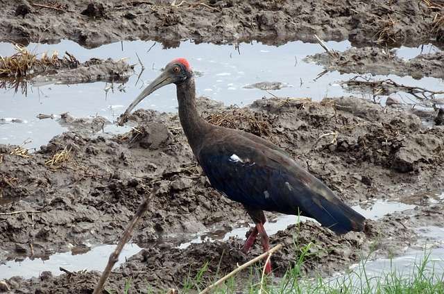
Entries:
MULTIPOLYGON (((48 259, 29 259, 23 261, 6 261, 0 264, 0 279, 20 276, 24 278, 39 277, 46 270, 53 275, 61 275, 61 268, 75 272, 78 270, 100 270, 105 268, 110 253, 117 245, 100 245, 92 248, 85 254, 74 254, 71 252, 52 254, 48 259)), ((125 262, 126 259, 142 250, 136 244, 126 244, 123 248, 116 266, 125 262)))

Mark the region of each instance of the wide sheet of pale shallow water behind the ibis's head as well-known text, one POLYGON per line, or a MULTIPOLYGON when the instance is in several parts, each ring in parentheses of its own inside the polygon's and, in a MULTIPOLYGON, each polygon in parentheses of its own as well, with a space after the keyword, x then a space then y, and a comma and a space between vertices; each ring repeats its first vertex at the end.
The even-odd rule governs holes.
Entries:
MULTIPOLYGON (((288 87, 269 91, 276 96, 309 97, 321 100, 325 96, 348 96, 349 93, 339 85, 339 81, 348 80, 354 74, 341 75, 330 72, 318 77, 323 67, 304 62, 307 55, 323 51, 318 44, 289 42, 282 46, 268 46, 253 42, 240 44, 239 51, 230 45, 193 44, 182 42, 178 48, 162 49, 154 42, 133 41, 118 42, 100 46, 96 49, 85 49, 71 41, 59 44, 30 44, 28 49, 35 53, 58 51, 62 55, 69 51, 80 61, 89 58, 128 58, 131 64, 137 64, 136 53, 146 69, 140 80, 137 76, 141 67, 135 67, 136 73, 125 85, 105 93, 110 84, 98 82, 77 85, 29 85, 28 94, 13 89, 0 89, 0 119, 8 118, 0 124, 0 144, 22 144, 31 139, 28 148, 38 148, 46 144, 62 128, 55 119, 37 119, 37 114, 61 114, 69 112, 76 117, 101 115, 114 121, 125 110, 130 101, 142 91, 150 80, 160 73, 160 69, 171 59, 185 56, 198 73, 196 76, 197 94, 208 96, 225 105, 247 105, 263 96, 271 94, 260 89, 245 89, 245 85, 259 82, 281 82, 288 87), (150 50, 150 47, 153 46, 150 50), (122 50, 123 48, 123 50, 122 50), (317 79, 316 79, 317 78, 317 79), (137 85, 136 85, 137 82, 137 85), (19 119, 22 122, 12 122, 19 119)), ((343 51, 350 47, 348 41, 327 42, 330 49, 343 51)), ((0 43, 0 55, 11 55, 14 49, 11 44, 0 43)), ((420 49, 402 47, 403 56, 416 55, 420 49)), ((439 89, 443 83, 436 78, 413 78, 397 76, 376 76, 391 78, 398 83, 439 89)), ((407 95, 407 94, 402 94, 407 95)), ((359 94, 369 98, 367 94, 359 94)), ((173 85, 164 87, 146 98, 139 107, 151 108, 165 112, 176 112, 176 90, 173 85)), ((125 129, 109 126, 106 132, 119 132, 125 129)))

